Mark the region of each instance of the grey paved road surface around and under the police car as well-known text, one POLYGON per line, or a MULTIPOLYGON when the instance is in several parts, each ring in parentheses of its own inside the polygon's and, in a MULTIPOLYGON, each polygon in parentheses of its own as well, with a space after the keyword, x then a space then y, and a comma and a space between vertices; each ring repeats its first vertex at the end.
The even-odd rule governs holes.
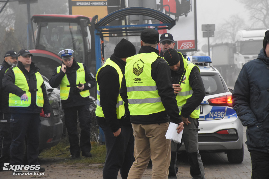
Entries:
MULTIPOLYGON (((244 142, 246 142, 246 127, 244 127, 244 142)), ((249 179, 251 178, 251 159, 250 152, 247 150, 247 146, 244 143, 244 160, 240 164, 230 164, 227 159, 227 155, 224 152, 221 153, 206 153, 200 152, 205 176, 207 179, 249 179)), ((177 178, 186 179, 191 178, 190 166, 187 157, 184 153, 178 155, 177 166, 179 171, 177 178)), ((142 179, 151 178, 151 168, 148 167, 142 179)), ((121 177, 118 177, 121 178, 121 177)))

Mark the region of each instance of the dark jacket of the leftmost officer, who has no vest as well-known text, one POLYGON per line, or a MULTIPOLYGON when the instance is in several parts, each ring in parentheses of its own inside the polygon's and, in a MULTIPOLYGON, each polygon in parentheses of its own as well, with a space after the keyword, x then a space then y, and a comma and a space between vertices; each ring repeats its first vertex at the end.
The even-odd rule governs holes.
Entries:
POLYGON ((2 63, 2 66, 0 67, 0 112, 2 113, 8 113, 8 96, 9 92, 4 90, 2 88, 2 81, 5 74, 5 71, 10 67, 8 62, 5 60, 2 63))

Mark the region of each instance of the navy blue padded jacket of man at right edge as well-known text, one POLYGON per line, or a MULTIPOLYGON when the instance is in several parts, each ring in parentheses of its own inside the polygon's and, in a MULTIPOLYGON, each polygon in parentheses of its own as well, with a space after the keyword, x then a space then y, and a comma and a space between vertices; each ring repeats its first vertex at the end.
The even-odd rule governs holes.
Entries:
POLYGON ((269 153, 269 58, 261 49, 258 58, 245 63, 232 92, 233 109, 247 127, 249 151, 269 153))

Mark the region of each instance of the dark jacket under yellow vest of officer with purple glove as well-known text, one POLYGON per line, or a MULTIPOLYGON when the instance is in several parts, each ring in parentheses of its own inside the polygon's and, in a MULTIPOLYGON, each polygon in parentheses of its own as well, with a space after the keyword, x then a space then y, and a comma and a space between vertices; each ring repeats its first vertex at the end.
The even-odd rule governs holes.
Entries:
MULTIPOLYGON (((15 67, 15 66, 14 66, 15 67)), ((18 61, 17 67, 22 71, 23 75, 26 78, 26 81, 28 83, 29 89, 37 89, 37 82, 36 82, 36 73, 39 71, 39 69, 34 65, 32 62, 30 65, 30 71, 27 71, 22 64, 22 62, 18 61)), ((12 67, 11 67, 12 68, 12 67)), ((22 96, 25 91, 23 91, 21 88, 17 87, 15 83, 15 75, 13 70, 8 69, 4 75, 3 78, 3 88, 9 93, 15 94, 17 96, 22 96)), ((47 96, 47 91, 44 83, 41 85, 42 93, 43 93, 43 99, 44 99, 44 105, 43 110, 45 114, 51 113, 50 111, 50 105, 49 105, 49 99, 47 96)), ((31 104, 28 107, 9 107, 10 113, 41 113, 42 107, 39 107, 36 105, 36 92, 31 92, 31 104)))

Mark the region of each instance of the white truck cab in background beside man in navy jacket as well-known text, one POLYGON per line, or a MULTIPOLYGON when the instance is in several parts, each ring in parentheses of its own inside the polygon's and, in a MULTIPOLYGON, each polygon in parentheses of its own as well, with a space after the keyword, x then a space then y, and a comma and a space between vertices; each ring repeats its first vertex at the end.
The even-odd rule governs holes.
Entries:
POLYGON ((237 52, 242 54, 246 62, 256 59, 263 48, 266 28, 239 30, 235 36, 237 52))

